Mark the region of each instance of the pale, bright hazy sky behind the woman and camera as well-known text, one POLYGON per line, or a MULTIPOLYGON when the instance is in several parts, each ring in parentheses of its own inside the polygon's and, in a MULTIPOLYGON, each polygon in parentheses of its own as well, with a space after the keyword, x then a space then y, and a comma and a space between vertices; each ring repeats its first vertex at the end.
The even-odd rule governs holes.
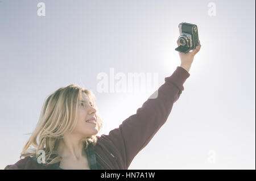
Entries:
POLYGON ((0 168, 19 160, 24 134, 59 87, 94 92, 101 134, 136 113, 152 92, 100 92, 97 75, 157 73, 158 88, 180 66, 181 22, 197 24, 201 50, 129 169, 255 169, 254 0, 0 0, 0 168))

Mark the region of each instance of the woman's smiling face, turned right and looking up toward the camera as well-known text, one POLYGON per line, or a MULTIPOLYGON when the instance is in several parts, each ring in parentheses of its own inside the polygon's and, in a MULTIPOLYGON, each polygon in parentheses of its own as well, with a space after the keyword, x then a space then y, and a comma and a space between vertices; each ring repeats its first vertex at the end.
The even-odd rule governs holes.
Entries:
MULTIPOLYGON (((82 100, 78 110, 77 125, 73 133, 81 135, 82 137, 91 137, 98 133, 98 128, 95 123, 86 120, 96 118, 96 109, 92 107, 88 96, 82 92, 82 100)), ((97 120, 96 120, 97 121, 97 120)))

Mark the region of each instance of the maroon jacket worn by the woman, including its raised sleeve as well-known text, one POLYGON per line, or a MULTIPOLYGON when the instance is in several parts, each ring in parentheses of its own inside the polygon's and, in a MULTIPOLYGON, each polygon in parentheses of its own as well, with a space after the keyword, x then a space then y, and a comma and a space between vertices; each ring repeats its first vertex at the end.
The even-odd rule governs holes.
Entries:
MULTIPOLYGON (((166 122, 189 76, 187 70, 177 66, 170 77, 164 78, 165 82, 155 92, 157 94, 153 94, 157 96, 148 98, 137 113, 124 120, 108 135, 97 136, 96 146, 90 145, 86 150, 90 169, 128 169, 134 157, 166 122)), ((60 169, 59 164, 42 166, 35 158, 26 157, 14 165, 7 165, 5 169, 60 169)))

